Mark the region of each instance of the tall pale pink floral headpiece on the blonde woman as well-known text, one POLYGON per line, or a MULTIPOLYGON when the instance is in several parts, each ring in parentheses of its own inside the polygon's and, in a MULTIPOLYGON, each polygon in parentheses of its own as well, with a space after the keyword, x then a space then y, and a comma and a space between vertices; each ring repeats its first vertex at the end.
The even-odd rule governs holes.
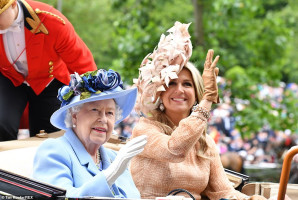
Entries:
POLYGON ((159 105, 159 96, 170 79, 186 65, 192 54, 192 44, 188 32, 189 24, 175 22, 174 26, 162 34, 158 46, 142 61, 139 77, 134 80, 138 88, 135 110, 147 115, 159 105))

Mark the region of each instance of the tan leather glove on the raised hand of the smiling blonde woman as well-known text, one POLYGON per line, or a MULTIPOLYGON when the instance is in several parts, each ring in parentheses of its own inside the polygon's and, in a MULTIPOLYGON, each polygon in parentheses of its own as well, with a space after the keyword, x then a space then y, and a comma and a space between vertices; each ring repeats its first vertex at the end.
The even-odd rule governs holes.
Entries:
POLYGON ((218 97, 218 87, 216 82, 216 77, 218 75, 219 69, 216 64, 219 60, 219 56, 216 56, 214 61, 212 61, 214 55, 213 49, 209 49, 203 71, 203 82, 204 82, 204 94, 203 99, 212 101, 213 103, 219 103, 218 97))

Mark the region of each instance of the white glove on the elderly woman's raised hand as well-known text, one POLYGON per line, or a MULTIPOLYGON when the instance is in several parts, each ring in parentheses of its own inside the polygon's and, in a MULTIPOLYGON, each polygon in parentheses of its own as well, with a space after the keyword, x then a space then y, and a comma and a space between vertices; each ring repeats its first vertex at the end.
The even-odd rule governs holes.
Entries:
POLYGON ((144 150, 146 143, 147 136, 142 135, 133 138, 119 150, 112 164, 106 170, 103 170, 109 186, 112 186, 116 179, 126 170, 129 161, 144 150))

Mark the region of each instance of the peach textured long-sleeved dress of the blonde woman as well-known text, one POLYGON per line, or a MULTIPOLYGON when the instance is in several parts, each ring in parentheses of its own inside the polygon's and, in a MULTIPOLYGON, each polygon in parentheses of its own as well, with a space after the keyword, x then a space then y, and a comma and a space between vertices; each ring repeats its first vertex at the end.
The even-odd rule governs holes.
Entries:
POLYGON ((140 119, 132 136, 147 135, 148 142, 144 151, 132 159, 130 170, 142 198, 166 196, 177 188, 188 190, 196 199, 201 199, 201 194, 211 200, 247 197, 232 187, 210 136, 206 138, 210 146, 206 158, 197 156, 198 139, 205 127, 206 122, 190 116, 168 136, 158 122, 140 119))

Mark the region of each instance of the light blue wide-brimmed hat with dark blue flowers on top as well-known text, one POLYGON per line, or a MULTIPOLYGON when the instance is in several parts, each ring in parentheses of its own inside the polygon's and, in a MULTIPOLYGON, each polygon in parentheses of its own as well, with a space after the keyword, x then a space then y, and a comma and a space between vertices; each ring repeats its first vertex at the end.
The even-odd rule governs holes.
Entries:
POLYGON ((123 90, 120 75, 113 71, 99 69, 82 75, 71 75, 70 84, 58 91, 58 99, 62 101, 59 110, 51 116, 51 123, 59 129, 67 129, 64 122, 67 110, 83 103, 114 99, 120 107, 121 119, 124 120, 134 108, 137 98, 137 88, 123 90))

